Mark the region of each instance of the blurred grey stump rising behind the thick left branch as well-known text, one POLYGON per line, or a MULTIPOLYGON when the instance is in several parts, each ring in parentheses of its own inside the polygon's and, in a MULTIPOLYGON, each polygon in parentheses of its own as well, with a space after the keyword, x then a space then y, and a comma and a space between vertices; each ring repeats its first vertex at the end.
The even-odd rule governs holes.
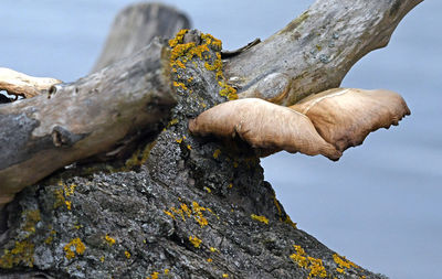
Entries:
POLYGON ((138 52, 154 37, 172 37, 190 21, 181 11, 160 3, 137 3, 127 7, 115 18, 105 46, 92 72, 138 52))

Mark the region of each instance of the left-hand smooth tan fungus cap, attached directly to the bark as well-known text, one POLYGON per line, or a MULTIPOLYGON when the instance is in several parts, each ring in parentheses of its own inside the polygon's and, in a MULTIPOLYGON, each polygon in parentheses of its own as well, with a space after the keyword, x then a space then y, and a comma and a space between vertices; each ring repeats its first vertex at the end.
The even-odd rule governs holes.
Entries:
POLYGON ((330 160, 341 155, 316 131, 312 121, 287 107, 257 98, 231 100, 212 107, 189 121, 197 136, 241 137, 253 148, 286 150, 330 160))

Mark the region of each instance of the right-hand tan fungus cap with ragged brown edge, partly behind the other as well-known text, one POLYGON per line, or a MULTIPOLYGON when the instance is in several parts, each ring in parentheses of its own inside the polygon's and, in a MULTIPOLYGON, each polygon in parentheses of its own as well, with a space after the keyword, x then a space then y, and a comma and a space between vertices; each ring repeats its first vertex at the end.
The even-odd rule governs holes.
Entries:
POLYGON ((306 115, 319 135, 339 151, 361 144, 371 131, 388 129, 410 115, 399 94, 383 89, 329 89, 291 108, 306 115))

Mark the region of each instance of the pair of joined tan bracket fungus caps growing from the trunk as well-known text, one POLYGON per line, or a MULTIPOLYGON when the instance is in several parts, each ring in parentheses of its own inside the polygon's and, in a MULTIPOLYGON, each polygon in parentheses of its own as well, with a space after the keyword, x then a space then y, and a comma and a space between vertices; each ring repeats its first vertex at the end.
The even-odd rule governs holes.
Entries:
POLYGON ((339 160, 379 128, 398 125, 410 110, 389 90, 334 88, 284 107, 259 98, 214 106, 189 121, 196 136, 239 136, 265 154, 281 150, 339 160))

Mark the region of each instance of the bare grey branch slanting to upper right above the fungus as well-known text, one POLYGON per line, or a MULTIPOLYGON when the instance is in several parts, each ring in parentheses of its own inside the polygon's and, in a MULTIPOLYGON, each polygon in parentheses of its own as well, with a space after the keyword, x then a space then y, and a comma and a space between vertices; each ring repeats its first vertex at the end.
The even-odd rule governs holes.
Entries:
POLYGON ((227 60, 240 97, 290 106, 339 87, 351 66, 388 44, 400 20, 422 0, 317 0, 264 42, 227 60))

